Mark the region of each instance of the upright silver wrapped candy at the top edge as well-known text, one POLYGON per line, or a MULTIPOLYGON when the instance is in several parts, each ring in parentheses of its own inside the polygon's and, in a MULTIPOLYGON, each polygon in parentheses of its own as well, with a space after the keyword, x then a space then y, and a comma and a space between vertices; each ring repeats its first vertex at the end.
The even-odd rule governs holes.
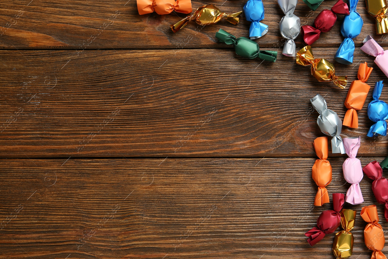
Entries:
POLYGON ((288 57, 295 57, 294 39, 300 33, 300 19, 294 15, 294 10, 298 0, 277 0, 285 16, 279 23, 280 34, 286 38, 282 54, 288 57))

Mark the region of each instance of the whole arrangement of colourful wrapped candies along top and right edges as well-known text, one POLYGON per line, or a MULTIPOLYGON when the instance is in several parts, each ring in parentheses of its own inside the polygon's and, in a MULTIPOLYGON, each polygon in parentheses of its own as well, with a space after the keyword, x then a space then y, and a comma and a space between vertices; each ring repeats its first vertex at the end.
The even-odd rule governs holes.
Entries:
MULTIPOLYGON (((316 10, 323 0, 303 0, 308 7, 316 10)), ((286 39, 282 54, 288 57, 296 56, 296 63, 302 66, 310 66, 311 75, 319 82, 331 81, 340 89, 344 89, 348 83, 347 76, 336 75, 333 63, 323 58, 316 58, 313 55, 311 45, 319 40, 321 33, 329 32, 337 21, 337 15, 345 15, 341 24, 341 34, 344 37, 343 42, 338 48, 334 60, 341 64, 352 64, 355 44, 353 38, 357 37, 362 30, 363 21, 356 7, 358 0, 348 0, 348 4, 343 0, 338 0, 331 9, 322 10, 314 20, 313 25, 301 26, 299 17, 294 15, 298 0, 278 0, 280 9, 284 16, 279 22, 280 34, 286 39), (306 47, 296 52, 295 38, 301 34, 306 47)), ((365 0, 367 11, 376 19, 376 34, 385 34, 388 32, 388 17, 386 16, 386 0, 365 0)), ((192 12, 191 0, 137 0, 139 14, 148 14, 156 12, 158 14, 170 14, 171 12, 181 12, 189 14, 192 12)), ((244 14, 247 21, 251 22, 249 27, 249 38, 239 37, 220 29, 215 37, 219 42, 232 45, 238 56, 248 59, 259 58, 263 61, 275 62, 277 51, 262 50, 259 44, 254 40, 263 37, 268 32, 268 25, 261 23, 264 19, 264 5, 262 0, 248 0, 244 5, 244 14)), ((216 24, 221 20, 228 21, 231 24, 239 23, 239 15, 242 11, 233 14, 221 12, 215 5, 203 5, 196 9, 192 15, 189 15, 171 25, 171 30, 176 33, 184 28, 190 21, 195 21, 201 26, 216 24)), ((363 41, 360 48, 365 53, 376 57, 374 62, 388 76, 388 52, 371 37, 368 36, 363 41)), ((333 253, 336 258, 347 258, 352 255, 353 234, 351 230, 355 226, 356 211, 343 209, 345 202, 352 205, 364 202, 360 189, 360 181, 365 175, 371 178, 372 191, 378 203, 384 204, 385 219, 388 221, 388 180, 382 177, 382 167, 388 168, 388 157, 379 164, 377 161, 371 162, 362 167, 361 162, 356 158, 360 147, 361 138, 346 137, 341 138, 342 126, 358 128, 357 111, 361 110, 371 88, 366 82, 371 75, 372 68, 367 63, 361 63, 358 70, 358 80, 354 80, 349 87, 345 99, 346 111, 343 122, 340 117, 332 110, 327 109, 325 99, 317 94, 310 99, 313 108, 319 113, 317 123, 322 133, 331 136, 332 153, 347 154, 343 163, 343 176, 350 187, 346 195, 342 193, 333 193, 333 210, 325 210, 320 214, 317 220, 317 226, 307 231, 307 242, 315 245, 326 234, 331 234, 341 225, 340 232, 335 234, 333 243, 333 253)), ((376 82, 373 89, 373 100, 368 105, 367 115, 374 124, 367 132, 367 137, 386 136, 388 119, 388 104, 380 100, 383 81, 376 82)), ((319 157, 312 167, 312 178, 318 186, 315 195, 314 205, 322 206, 329 203, 329 194, 326 186, 331 183, 332 168, 328 158, 328 140, 327 137, 317 137, 314 140, 315 153, 319 157)), ((365 245, 372 250, 373 259, 386 259, 381 252, 384 247, 384 233, 377 215, 375 205, 365 206, 361 210, 361 217, 367 222, 364 229, 365 245)))

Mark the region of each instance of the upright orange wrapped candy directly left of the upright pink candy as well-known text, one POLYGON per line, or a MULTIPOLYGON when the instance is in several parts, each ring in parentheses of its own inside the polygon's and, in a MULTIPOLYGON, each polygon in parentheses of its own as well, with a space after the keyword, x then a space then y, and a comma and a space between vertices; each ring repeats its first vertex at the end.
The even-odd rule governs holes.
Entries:
POLYGON ((324 203, 330 202, 329 194, 326 189, 326 186, 331 182, 331 165, 330 162, 326 160, 329 153, 327 137, 317 137, 314 140, 314 148, 315 153, 319 157, 319 159, 315 160, 312 168, 312 177, 318 185, 314 206, 322 206, 324 203))

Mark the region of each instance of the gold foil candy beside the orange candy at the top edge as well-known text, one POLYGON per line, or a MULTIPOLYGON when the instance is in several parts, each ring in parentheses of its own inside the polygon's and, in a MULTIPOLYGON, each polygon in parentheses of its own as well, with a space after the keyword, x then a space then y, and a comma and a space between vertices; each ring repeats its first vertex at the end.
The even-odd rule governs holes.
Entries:
POLYGON ((199 7, 194 14, 187 16, 185 19, 178 21, 178 23, 172 24, 171 30, 175 33, 186 26, 189 21, 195 21, 199 25, 215 24, 222 19, 227 20, 229 23, 236 25, 239 23, 239 16, 242 13, 236 12, 234 14, 225 14, 221 12, 215 5, 203 5, 199 7))

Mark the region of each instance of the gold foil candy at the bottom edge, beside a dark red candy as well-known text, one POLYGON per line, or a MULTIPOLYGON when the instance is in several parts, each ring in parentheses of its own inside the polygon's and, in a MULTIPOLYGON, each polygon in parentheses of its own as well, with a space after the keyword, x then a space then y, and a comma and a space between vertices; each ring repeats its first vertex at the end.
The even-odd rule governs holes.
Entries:
POLYGON ((342 231, 336 233, 333 242, 333 254, 336 258, 345 259, 352 255, 354 237, 352 232, 356 211, 349 209, 341 210, 342 231))

